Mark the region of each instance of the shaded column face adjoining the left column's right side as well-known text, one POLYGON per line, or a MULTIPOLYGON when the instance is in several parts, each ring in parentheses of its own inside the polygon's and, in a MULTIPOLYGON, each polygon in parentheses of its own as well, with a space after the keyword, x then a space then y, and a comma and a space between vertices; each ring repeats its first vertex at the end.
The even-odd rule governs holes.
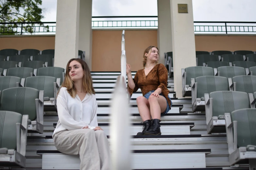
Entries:
POLYGON ((85 62, 92 68, 92 0, 80 0, 79 50, 85 51, 85 62))

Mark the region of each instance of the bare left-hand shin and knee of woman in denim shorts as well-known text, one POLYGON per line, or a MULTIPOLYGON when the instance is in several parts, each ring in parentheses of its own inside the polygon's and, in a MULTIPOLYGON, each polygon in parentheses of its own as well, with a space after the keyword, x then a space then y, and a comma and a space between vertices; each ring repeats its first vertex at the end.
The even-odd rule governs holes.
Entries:
POLYGON ((139 96, 139 97, 137 97, 136 102, 138 105, 139 115, 140 115, 141 119, 143 121, 150 120, 151 115, 150 115, 149 100, 143 96, 139 96))

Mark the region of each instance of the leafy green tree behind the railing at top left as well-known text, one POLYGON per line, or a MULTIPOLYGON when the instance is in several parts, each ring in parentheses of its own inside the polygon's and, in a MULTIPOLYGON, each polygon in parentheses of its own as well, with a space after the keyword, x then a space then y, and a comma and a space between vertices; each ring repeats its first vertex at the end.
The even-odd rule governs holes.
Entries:
MULTIPOLYGON (((43 9, 38 7, 42 5, 42 0, 0 0, 0 22, 41 22, 44 18, 43 9)), ((42 25, 42 24, 40 24, 42 25)), ((15 35, 16 24, 1 24, 1 35, 15 35), (9 27, 9 28, 7 28, 9 27), (7 33, 9 32, 12 33, 7 33)), ((33 33, 35 24, 26 24, 23 31, 33 33)), ((20 28, 19 28, 20 29, 20 28)))

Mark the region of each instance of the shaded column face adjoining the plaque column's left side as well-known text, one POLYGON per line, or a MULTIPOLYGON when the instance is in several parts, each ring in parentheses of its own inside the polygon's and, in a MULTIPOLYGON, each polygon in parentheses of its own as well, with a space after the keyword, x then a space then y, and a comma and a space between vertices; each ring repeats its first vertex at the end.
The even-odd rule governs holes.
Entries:
POLYGON ((157 0, 157 13, 157 46, 159 48, 159 63, 164 64, 164 53, 173 50, 170 0, 157 0))

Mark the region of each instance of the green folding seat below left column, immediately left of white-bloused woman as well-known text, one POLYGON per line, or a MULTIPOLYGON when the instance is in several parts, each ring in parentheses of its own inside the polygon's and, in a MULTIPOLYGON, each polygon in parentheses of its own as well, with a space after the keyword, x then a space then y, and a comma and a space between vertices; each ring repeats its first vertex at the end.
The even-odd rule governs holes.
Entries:
POLYGON ((50 76, 60 78, 60 84, 62 84, 65 72, 61 67, 42 67, 37 70, 37 76, 50 76))

